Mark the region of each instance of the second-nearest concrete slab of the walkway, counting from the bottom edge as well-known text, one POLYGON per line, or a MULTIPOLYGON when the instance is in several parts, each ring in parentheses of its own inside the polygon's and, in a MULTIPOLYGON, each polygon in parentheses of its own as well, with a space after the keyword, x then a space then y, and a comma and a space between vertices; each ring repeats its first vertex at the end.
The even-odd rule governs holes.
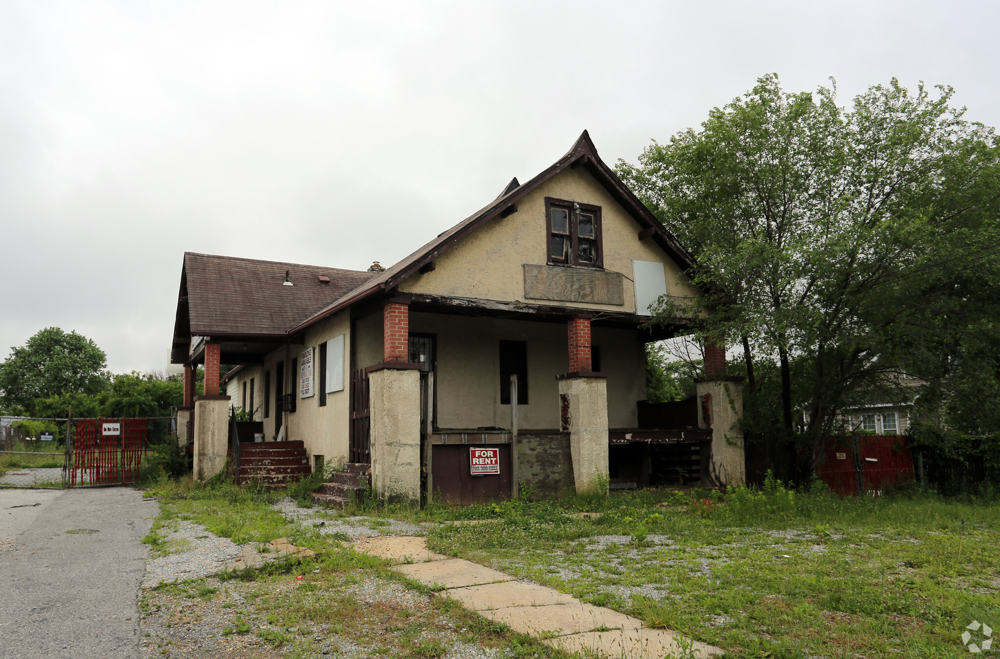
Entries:
POLYGON ((483 617, 503 622, 519 634, 578 634, 595 629, 638 630, 642 620, 590 604, 515 606, 480 611, 483 617))

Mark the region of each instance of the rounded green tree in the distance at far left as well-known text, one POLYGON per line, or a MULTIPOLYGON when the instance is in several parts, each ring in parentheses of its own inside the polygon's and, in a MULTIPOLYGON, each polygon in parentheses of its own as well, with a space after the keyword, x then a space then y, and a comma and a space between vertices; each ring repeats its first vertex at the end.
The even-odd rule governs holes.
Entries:
POLYGON ((97 393, 109 383, 107 356, 76 331, 46 328, 0 363, 0 395, 6 406, 29 411, 34 401, 62 393, 97 393))

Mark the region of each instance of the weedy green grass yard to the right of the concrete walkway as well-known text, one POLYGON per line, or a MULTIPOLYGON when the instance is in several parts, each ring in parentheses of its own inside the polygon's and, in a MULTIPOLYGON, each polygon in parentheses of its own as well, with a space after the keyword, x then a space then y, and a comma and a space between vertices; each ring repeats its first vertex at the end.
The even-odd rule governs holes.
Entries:
POLYGON ((770 483, 430 514, 502 520, 435 527, 436 551, 495 560, 731 657, 960 657, 965 625, 1000 624, 1000 507, 990 501, 841 500, 770 483), (566 516, 577 510, 603 514, 566 516), (601 535, 620 542, 590 542, 601 535))

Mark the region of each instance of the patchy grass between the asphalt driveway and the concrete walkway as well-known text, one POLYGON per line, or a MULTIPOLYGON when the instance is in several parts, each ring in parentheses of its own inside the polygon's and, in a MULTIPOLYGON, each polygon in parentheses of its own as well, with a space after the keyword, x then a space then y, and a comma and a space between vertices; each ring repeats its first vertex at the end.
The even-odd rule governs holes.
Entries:
MULTIPOLYGON (((449 650, 443 641, 451 638, 507 648, 515 659, 567 659, 562 652, 515 634, 451 599, 418 597, 412 605, 400 606, 377 597, 360 601, 351 594, 352 586, 373 581, 376 591, 401 584, 430 594, 385 565, 382 559, 331 543, 321 556, 300 563, 276 562, 220 579, 160 584, 143 592, 140 608, 147 628, 155 628, 151 622, 157 617, 167 636, 171 628, 198 620, 203 611, 224 611, 228 622, 217 630, 220 636, 256 637, 289 657, 315 657, 332 639, 359 646, 365 656, 441 659, 449 650), (305 577, 301 581, 296 578, 300 575, 305 577)), ((371 598, 372 593, 366 592, 364 597, 371 598)), ((149 648, 174 643, 157 636, 143 643, 149 648)))

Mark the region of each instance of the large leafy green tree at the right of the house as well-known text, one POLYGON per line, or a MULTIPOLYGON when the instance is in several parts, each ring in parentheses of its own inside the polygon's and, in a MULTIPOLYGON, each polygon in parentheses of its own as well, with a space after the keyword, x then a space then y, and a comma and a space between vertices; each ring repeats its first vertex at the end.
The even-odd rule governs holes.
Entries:
MULTIPOLYGON (((700 331, 742 342, 751 403, 755 360, 776 365, 775 434, 800 478, 857 391, 902 369, 954 377, 963 341, 1000 327, 997 136, 937 91, 892 80, 848 109, 834 88, 765 76, 700 130, 618 164, 694 254, 712 312, 700 331)), ((663 300, 660 318, 681 305, 663 300)))

